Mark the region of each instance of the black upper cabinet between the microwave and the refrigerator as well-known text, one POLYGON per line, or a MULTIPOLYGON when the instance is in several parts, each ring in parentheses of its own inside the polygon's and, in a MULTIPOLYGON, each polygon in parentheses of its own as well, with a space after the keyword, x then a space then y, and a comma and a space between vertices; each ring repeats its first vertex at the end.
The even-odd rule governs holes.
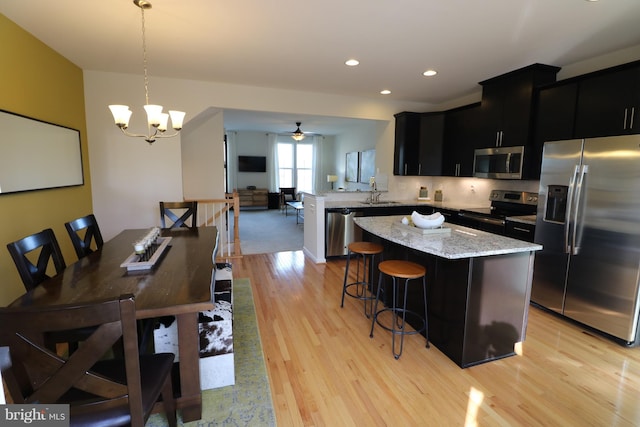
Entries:
POLYGON ((578 82, 570 81, 543 87, 536 93, 535 129, 526 179, 540 179, 542 150, 547 141, 574 137, 578 82))

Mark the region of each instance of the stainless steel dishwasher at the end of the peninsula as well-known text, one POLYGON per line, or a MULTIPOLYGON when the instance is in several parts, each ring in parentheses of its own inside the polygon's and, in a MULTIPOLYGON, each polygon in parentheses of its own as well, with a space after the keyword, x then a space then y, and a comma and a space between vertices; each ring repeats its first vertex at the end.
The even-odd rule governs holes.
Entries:
POLYGON ((325 257, 347 255, 349 243, 362 239, 362 230, 353 217, 362 216, 363 209, 329 208, 325 221, 325 257))

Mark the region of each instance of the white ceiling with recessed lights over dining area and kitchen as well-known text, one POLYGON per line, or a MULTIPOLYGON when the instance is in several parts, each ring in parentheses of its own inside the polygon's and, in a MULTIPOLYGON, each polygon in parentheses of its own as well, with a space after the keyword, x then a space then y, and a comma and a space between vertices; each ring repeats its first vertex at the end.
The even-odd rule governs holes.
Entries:
MULTIPOLYGON (((562 67, 640 45, 640 0, 151 2, 151 78, 371 98, 389 89, 387 99, 434 105, 536 62, 562 67), (344 65, 352 57, 359 66, 344 65), (427 68, 438 75, 422 76, 427 68)), ((83 69, 142 73, 132 0, 0 0, 0 12, 83 69)))

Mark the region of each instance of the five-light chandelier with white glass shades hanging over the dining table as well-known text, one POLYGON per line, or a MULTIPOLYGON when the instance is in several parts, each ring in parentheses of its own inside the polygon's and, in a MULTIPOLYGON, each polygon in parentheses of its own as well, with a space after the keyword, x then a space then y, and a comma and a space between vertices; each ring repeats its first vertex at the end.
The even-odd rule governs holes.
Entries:
POLYGON ((131 118, 131 110, 128 105, 109 105, 113 120, 116 126, 120 128, 122 133, 127 136, 136 138, 144 138, 149 144, 155 142, 157 138, 171 138, 180 132, 185 113, 183 111, 169 110, 169 114, 162 112, 162 105, 149 104, 149 76, 147 75, 147 40, 144 28, 144 10, 151 9, 151 3, 147 0, 133 0, 133 3, 140 8, 142 12, 142 63, 144 67, 144 109, 147 112, 147 134, 135 134, 127 131, 129 127, 129 119, 131 118), (166 135, 167 124, 171 117, 171 127, 175 133, 166 135))

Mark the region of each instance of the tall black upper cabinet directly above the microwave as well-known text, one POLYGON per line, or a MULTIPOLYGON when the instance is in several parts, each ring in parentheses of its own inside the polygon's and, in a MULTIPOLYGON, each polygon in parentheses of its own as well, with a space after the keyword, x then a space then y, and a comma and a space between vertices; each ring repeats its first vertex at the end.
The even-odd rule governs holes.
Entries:
POLYGON ((529 145, 534 90, 537 86, 555 82, 559 70, 550 65, 533 64, 480 82, 483 120, 478 129, 478 145, 529 145))

